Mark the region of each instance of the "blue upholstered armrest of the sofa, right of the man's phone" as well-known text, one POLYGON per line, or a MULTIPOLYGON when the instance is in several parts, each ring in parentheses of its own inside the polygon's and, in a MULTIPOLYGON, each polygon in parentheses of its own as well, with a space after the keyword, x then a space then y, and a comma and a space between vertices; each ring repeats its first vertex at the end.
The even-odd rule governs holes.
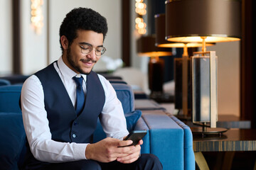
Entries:
POLYGON ((143 111, 149 127, 149 150, 159 157, 164 169, 195 169, 190 128, 165 111, 143 111))

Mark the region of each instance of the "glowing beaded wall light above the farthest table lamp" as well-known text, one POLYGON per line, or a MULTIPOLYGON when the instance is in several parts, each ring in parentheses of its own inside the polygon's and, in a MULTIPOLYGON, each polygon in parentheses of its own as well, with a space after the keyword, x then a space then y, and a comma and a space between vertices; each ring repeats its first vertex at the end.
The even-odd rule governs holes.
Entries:
POLYGON ((137 13, 137 18, 135 18, 138 33, 143 35, 146 33, 146 23, 144 23, 143 16, 146 15, 146 4, 144 0, 136 0, 135 12, 137 13))

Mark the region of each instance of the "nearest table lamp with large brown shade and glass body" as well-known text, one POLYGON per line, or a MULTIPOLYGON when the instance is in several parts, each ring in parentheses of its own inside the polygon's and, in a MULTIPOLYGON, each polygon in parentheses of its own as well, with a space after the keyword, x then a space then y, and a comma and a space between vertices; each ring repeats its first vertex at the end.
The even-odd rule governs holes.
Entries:
POLYGON ((225 132, 216 128, 217 57, 206 51, 206 42, 240 40, 240 5, 237 0, 166 1, 166 40, 203 43, 202 52, 191 57, 193 123, 202 123, 202 134, 225 132))

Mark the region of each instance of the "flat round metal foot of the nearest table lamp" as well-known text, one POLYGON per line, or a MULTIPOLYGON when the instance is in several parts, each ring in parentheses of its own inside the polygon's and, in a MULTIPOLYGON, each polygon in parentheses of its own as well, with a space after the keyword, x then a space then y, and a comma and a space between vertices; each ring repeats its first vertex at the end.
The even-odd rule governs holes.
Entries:
POLYGON ((219 135, 221 136, 223 132, 227 132, 226 128, 208 128, 208 127, 191 127, 191 131, 194 135, 202 135, 205 137, 206 135, 219 135))

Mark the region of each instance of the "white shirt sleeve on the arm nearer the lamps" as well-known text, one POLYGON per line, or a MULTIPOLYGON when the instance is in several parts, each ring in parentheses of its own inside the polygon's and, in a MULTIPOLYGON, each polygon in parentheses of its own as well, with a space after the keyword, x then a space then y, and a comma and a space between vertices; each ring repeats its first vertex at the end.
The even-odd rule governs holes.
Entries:
POLYGON ((122 103, 117 98, 116 91, 114 91, 110 81, 101 75, 99 77, 105 91, 105 105, 100 115, 100 123, 107 137, 123 140, 123 137, 127 136, 129 132, 122 103))

